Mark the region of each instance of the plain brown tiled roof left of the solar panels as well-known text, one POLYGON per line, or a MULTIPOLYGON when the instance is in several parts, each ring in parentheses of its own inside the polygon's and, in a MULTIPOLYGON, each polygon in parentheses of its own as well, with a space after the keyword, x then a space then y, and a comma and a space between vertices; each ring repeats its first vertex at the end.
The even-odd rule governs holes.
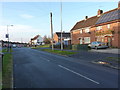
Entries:
POLYGON ((75 24, 75 26, 71 29, 71 31, 76 30, 76 29, 80 29, 80 28, 93 26, 93 25, 95 25, 98 18, 99 17, 97 17, 97 16, 93 16, 93 17, 87 18, 86 20, 79 21, 75 24))

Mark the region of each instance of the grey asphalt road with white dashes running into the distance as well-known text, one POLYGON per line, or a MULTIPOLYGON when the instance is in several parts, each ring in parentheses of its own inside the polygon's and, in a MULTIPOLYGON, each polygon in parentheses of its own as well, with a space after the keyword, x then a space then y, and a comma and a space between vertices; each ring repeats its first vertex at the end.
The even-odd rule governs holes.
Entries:
MULTIPOLYGON (((87 57, 87 56, 86 56, 87 57)), ((14 88, 117 88, 118 71, 30 48, 14 48, 14 88)))

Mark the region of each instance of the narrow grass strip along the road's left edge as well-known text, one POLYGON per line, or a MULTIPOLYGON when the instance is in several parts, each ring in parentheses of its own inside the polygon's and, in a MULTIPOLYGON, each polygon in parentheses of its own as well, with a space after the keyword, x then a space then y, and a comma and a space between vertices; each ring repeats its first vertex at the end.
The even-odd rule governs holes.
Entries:
MULTIPOLYGON (((13 70, 12 54, 6 52, 7 50, 4 49, 3 53, 5 54, 3 57, 2 88, 12 88, 12 70, 13 70)), ((10 52, 12 52, 12 50, 10 50, 10 52)))

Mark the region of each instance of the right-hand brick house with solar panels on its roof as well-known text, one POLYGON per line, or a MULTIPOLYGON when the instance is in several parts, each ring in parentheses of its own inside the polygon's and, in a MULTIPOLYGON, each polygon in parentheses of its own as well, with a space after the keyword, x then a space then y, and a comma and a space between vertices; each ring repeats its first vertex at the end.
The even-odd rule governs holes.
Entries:
POLYGON ((96 41, 102 41, 108 46, 120 48, 120 2, 118 8, 103 13, 95 27, 96 41))

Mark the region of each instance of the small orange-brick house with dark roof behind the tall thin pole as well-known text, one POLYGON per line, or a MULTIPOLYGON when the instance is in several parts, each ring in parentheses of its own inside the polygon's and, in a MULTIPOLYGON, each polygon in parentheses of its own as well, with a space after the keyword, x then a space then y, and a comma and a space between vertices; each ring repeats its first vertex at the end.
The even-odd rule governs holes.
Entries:
MULTIPOLYGON (((54 33, 53 40, 54 40, 54 43, 61 42, 61 32, 54 33)), ((62 40, 63 40, 63 43, 65 45, 70 45, 71 44, 70 33, 69 32, 63 32, 62 33, 62 40)))

